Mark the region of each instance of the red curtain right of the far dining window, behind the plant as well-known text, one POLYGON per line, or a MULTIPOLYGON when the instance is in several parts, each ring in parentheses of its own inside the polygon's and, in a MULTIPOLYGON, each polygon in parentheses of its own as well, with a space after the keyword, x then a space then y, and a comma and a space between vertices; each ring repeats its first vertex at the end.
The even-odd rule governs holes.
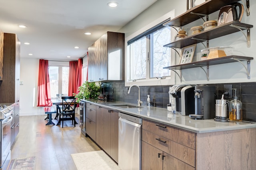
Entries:
POLYGON ((82 59, 69 62, 68 96, 78 93, 78 87, 82 83, 82 59))

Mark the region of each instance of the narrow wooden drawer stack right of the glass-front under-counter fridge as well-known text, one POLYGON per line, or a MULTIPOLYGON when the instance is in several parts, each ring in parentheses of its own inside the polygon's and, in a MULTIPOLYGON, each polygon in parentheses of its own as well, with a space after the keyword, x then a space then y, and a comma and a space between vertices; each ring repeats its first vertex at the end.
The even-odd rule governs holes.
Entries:
POLYGON ((86 137, 89 135, 92 140, 96 141, 96 105, 86 103, 85 129, 86 137))

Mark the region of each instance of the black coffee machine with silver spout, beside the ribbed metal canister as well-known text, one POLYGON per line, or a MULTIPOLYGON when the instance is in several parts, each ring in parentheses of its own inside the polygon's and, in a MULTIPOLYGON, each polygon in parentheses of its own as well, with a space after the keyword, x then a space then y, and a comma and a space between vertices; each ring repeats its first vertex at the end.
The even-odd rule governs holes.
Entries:
POLYGON ((195 86, 195 114, 194 119, 213 119, 215 117, 215 86, 195 86))

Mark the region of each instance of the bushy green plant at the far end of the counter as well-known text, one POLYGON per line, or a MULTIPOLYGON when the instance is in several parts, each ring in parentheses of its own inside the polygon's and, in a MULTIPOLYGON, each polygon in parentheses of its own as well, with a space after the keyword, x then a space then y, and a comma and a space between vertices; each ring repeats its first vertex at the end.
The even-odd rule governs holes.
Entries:
POLYGON ((78 87, 78 94, 73 93, 73 96, 77 98, 77 102, 81 99, 98 99, 100 95, 100 87, 96 86, 95 82, 84 82, 78 87))

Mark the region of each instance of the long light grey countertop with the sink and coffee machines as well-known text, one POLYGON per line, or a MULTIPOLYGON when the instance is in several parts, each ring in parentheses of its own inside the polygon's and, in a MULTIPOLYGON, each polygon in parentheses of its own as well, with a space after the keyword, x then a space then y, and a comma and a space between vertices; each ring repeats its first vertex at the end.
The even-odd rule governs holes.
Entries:
POLYGON ((85 102, 91 102, 98 106, 104 106, 106 108, 120 111, 122 113, 127 113, 129 115, 134 115, 136 117, 141 117, 144 119, 156 121, 158 123, 163 123, 173 127, 178 127, 180 129, 196 132, 196 133, 208 133, 208 132, 217 132, 217 131, 228 131, 236 129, 248 129, 256 128, 256 122, 249 121, 230 121, 228 122, 218 122, 214 119, 205 119, 205 120, 195 120, 189 116, 182 116, 179 114, 173 114, 168 112, 167 109, 159 107, 147 107, 142 105, 140 108, 121 108, 112 105, 118 104, 129 104, 136 106, 136 104, 117 102, 117 101, 100 101, 87 99, 83 100, 85 102))

